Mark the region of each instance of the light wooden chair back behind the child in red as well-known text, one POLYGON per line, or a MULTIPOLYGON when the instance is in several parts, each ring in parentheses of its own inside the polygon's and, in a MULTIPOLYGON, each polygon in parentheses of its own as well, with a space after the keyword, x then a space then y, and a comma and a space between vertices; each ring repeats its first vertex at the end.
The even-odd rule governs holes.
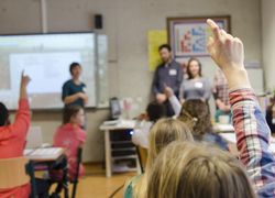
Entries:
POLYGON ((26 157, 0 160, 0 189, 15 188, 31 180, 31 198, 36 198, 34 164, 26 157))

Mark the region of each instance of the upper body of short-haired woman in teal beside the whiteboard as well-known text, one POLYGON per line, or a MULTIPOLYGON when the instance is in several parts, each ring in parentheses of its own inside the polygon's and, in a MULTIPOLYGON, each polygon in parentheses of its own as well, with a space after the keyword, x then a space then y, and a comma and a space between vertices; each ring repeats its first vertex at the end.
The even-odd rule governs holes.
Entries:
POLYGON ((63 85, 62 100, 65 106, 78 105, 84 108, 88 103, 89 97, 86 95, 86 85, 79 80, 81 66, 73 63, 69 72, 73 78, 63 85))

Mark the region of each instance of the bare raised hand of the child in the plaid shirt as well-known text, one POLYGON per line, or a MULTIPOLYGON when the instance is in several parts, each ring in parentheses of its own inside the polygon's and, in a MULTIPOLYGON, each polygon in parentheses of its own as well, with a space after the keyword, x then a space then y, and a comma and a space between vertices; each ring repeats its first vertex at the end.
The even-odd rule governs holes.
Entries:
POLYGON ((222 69, 229 87, 250 86, 248 74, 243 67, 244 52, 241 40, 219 30, 219 26, 210 19, 207 20, 207 23, 213 33, 213 38, 209 38, 207 50, 211 58, 222 69))

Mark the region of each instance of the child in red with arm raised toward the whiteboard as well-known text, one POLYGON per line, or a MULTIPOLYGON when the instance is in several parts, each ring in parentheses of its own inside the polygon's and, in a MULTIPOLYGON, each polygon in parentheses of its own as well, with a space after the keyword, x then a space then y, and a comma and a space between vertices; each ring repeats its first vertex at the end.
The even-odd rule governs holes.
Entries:
MULTIPOLYGON (((28 101, 26 86, 29 76, 21 76, 19 109, 15 121, 11 124, 8 109, 0 102, 0 158, 24 156, 25 136, 31 122, 31 110, 28 101)), ((35 178, 36 194, 40 198, 48 198, 48 184, 35 178)), ((10 189, 1 189, 1 198, 28 198, 31 195, 31 183, 10 189)))

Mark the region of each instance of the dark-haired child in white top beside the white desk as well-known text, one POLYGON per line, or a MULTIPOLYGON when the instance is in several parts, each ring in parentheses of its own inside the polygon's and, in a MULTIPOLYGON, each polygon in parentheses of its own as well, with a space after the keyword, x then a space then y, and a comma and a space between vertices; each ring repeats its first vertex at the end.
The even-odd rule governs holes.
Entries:
POLYGON ((132 135, 132 142, 135 145, 140 145, 141 147, 148 148, 148 134, 152 125, 161 118, 166 117, 166 107, 158 102, 151 102, 146 112, 141 113, 135 122, 134 133, 132 135), (142 125, 142 120, 145 120, 145 123, 142 125))

